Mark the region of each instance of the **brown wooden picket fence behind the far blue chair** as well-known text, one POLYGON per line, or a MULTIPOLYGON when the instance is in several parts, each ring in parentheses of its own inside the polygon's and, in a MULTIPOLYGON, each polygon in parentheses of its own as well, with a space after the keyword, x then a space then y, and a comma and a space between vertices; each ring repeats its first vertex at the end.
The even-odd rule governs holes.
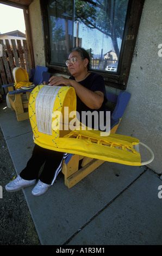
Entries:
POLYGON ((11 39, 11 45, 8 39, 5 39, 4 45, 1 39, 0 46, 3 53, 0 56, 0 93, 3 95, 5 92, 2 85, 14 83, 13 69, 18 66, 26 69, 30 75, 30 66, 26 40, 23 40, 23 45, 21 45, 21 40, 17 40, 16 46, 15 39, 11 39))

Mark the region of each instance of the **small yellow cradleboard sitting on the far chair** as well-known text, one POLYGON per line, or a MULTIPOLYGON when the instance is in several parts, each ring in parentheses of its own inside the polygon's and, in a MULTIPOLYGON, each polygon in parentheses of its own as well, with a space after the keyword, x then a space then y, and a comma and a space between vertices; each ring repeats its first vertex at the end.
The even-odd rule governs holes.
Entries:
MULTIPOLYGON (((33 83, 29 82, 29 76, 25 69, 16 67, 13 69, 13 76, 15 81, 15 89, 27 89, 28 87, 32 88, 33 83)), ((34 87, 34 85, 33 85, 34 87)))

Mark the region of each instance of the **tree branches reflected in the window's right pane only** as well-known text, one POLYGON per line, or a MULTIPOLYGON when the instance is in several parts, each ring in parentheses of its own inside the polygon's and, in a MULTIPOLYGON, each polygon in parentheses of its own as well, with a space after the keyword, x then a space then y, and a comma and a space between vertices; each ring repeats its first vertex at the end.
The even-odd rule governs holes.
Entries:
POLYGON ((76 20, 110 36, 119 58, 117 38, 122 39, 128 0, 75 1, 76 20))

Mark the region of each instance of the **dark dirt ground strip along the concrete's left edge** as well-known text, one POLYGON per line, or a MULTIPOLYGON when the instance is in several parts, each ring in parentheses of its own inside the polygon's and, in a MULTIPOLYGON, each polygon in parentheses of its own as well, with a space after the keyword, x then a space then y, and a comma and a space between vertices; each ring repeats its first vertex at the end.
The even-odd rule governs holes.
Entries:
POLYGON ((0 127, 0 245, 40 245, 23 191, 7 192, 5 185, 16 176, 0 127))

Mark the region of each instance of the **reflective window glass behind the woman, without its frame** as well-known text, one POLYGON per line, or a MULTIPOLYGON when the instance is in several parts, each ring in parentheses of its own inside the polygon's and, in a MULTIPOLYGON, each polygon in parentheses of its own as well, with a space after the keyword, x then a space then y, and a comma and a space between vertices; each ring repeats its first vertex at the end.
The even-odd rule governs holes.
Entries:
POLYGON ((65 65, 72 47, 85 48, 91 68, 117 72, 128 0, 48 1, 51 63, 65 65))

